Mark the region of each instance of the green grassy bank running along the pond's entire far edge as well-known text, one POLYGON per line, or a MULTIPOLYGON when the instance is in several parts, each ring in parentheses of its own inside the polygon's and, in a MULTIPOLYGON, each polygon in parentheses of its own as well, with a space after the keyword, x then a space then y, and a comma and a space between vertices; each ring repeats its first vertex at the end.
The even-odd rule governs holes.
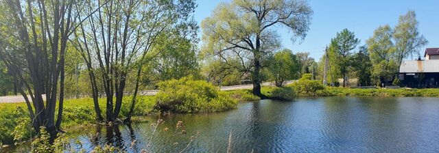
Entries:
MULTIPOLYGON (((291 99, 296 93, 298 96, 425 96, 439 97, 439 89, 349 89, 342 87, 298 87, 291 85, 290 88, 263 87, 262 93, 269 98, 291 99), (307 89, 307 91, 300 91, 307 89)), ((315 86, 315 85, 314 85, 315 86)), ((220 92, 228 98, 238 102, 248 102, 260 100, 259 97, 252 94, 251 89, 239 89, 226 92, 220 92)), ((186 94, 181 94, 186 95, 186 94)), ((198 95, 198 94, 197 94, 198 95)), ((121 117, 128 115, 128 108, 131 102, 131 96, 123 99, 121 117)), ((156 96, 139 96, 137 105, 134 109, 135 116, 144 116, 158 112, 156 108, 156 96)), ((187 98, 187 96, 185 97, 187 98)), ((202 102, 203 100, 198 100, 202 102)), ((222 101, 222 100, 220 100, 222 101)), ((99 99, 99 105, 102 108, 102 114, 105 114, 105 98, 99 99)), ((209 105, 210 106, 210 105, 209 105)), ((213 105, 215 107, 216 105, 213 105)), ((3 103, 0 104, 0 144, 12 145, 16 142, 27 140, 30 137, 29 116, 25 103, 3 103)), ((232 108, 233 109, 233 108, 232 108)), ((80 98, 65 100, 62 127, 67 129, 73 126, 91 124, 95 122, 95 111, 93 109, 92 98, 80 98)))

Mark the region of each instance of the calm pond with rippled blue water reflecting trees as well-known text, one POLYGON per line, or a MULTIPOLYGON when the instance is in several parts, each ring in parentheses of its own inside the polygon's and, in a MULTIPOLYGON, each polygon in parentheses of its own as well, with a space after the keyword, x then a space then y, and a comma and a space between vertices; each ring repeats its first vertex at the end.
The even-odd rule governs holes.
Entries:
POLYGON ((157 119, 84 128, 70 135, 72 148, 79 140, 87 151, 111 144, 128 152, 226 152, 230 136, 232 152, 439 152, 439 98, 259 100, 222 113, 168 115, 147 147, 157 119), (187 135, 173 136, 178 121, 187 135))

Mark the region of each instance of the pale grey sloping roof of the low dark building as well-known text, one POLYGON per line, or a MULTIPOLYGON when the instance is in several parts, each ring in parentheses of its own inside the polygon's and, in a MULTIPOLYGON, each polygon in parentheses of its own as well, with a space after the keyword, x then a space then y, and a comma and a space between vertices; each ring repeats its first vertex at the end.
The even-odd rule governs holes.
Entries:
POLYGON ((400 73, 439 72, 439 60, 403 61, 400 73))

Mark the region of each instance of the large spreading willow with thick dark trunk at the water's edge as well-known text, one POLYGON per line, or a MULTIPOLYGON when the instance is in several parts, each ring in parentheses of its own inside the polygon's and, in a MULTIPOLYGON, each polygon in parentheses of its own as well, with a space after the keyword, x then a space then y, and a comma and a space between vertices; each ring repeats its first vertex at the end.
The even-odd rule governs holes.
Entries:
MULTIPOLYGON (((253 94, 261 94, 261 61, 278 49, 275 27, 286 27, 293 39, 305 38, 313 11, 302 0, 234 0, 221 3, 202 22, 204 52, 211 55, 251 55, 253 94)), ((227 58, 224 58, 227 59, 227 58)))

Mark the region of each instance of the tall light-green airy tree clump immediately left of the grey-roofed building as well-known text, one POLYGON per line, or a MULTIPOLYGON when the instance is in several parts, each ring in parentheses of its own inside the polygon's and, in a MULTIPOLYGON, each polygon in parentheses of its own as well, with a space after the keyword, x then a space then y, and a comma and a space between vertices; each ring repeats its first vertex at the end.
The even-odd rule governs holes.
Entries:
POLYGON ((399 17, 392 29, 389 25, 375 29, 366 41, 372 61, 372 79, 375 83, 393 80, 403 59, 417 53, 428 41, 418 31, 416 13, 412 10, 399 17))

